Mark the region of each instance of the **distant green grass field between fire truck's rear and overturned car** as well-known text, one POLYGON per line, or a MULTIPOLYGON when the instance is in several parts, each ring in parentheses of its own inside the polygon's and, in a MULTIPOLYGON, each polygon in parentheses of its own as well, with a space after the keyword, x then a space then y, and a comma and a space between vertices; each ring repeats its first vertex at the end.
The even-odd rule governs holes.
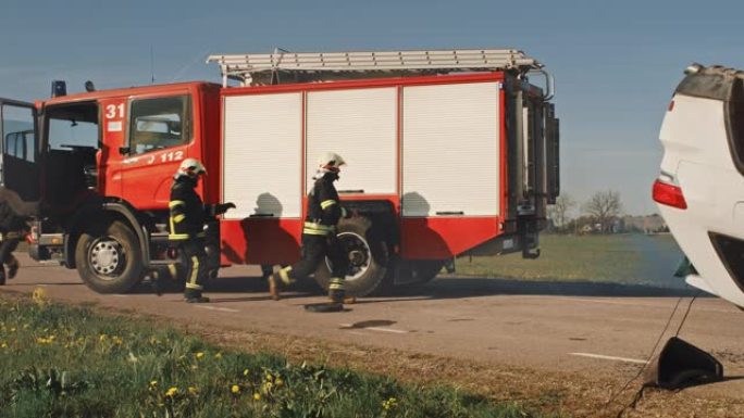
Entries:
POLYGON ((457 274, 523 280, 653 283, 671 277, 681 257, 671 236, 541 236, 541 256, 460 258, 457 274))

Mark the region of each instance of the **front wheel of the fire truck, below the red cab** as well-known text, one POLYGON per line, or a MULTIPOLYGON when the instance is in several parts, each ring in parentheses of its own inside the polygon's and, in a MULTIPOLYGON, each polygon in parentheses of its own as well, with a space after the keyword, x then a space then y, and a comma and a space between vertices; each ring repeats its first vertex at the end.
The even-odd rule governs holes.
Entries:
POLYGON ((144 275, 139 240, 120 220, 84 231, 75 248, 75 264, 83 281, 98 293, 126 293, 144 275))

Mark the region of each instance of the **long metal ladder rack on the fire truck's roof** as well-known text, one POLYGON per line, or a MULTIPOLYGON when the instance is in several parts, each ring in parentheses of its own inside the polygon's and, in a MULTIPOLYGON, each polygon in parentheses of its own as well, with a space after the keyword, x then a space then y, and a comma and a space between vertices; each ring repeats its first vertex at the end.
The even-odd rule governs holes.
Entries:
POLYGON ((379 76, 447 74, 514 69, 542 71, 543 64, 514 49, 460 49, 431 51, 285 52, 210 55, 222 69, 223 86, 278 83, 280 75, 294 81, 325 81, 379 76))

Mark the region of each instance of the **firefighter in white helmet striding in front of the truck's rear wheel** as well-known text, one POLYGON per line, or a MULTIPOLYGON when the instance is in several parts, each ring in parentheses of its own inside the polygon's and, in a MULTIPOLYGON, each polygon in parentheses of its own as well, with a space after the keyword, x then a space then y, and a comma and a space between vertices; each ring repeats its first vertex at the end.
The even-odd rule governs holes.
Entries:
POLYGON ((269 276, 269 292, 273 300, 280 300, 280 286, 288 286, 310 276, 327 256, 333 265, 328 296, 334 303, 344 302, 348 257, 336 239, 336 224, 342 216, 346 216, 346 211, 340 206, 338 192, 333 186, 344 164, 344 159, 333 152, 320 159, 318 173, 313 176, 315 182, 308 193, 301 257, 294 265, 269 276))

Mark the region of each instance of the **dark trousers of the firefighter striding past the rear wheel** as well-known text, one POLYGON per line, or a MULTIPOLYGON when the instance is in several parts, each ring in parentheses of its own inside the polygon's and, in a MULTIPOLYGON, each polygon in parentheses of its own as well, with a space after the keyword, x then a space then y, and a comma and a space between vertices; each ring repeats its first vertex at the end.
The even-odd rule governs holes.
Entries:
POLYGON ((280 277, 285 284, 302 280, 315 273, 320 264, 325 263, 326 256, 331 262, 333 278, 343 281, 349 268, 349 259, 336 236, 302 233, 300 259, 280 270, 280 277))

